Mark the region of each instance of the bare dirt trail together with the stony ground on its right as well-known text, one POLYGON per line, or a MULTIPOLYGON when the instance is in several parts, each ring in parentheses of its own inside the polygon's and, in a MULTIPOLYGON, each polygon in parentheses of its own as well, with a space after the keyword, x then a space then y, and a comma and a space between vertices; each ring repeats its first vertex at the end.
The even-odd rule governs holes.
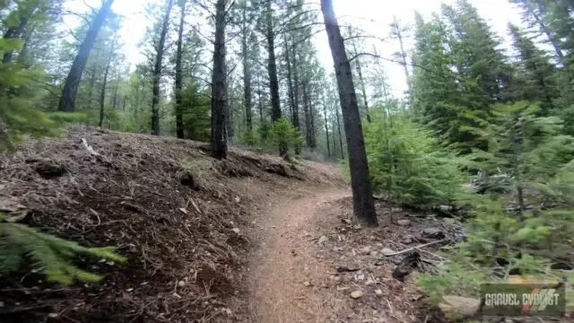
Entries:
MULTIPOLYGON (((250 317, 245 321, 445 321, 438 311, 423 305, 422 292, 413 279, 407 276, 400 282, 393 277, 405 254, 386 258, 379 250, 408 249, 407 244, 424 240, 420 231, 430 226, 452 237, 459 224, 429 221, 419 218, 422 214, 379 202, 381 227, 359 229, 352 225, 349 190, 294 192, 281 200, 269 200, 257 218, 260 228, 253 235, 262 242, 252 260, 250 317), (411 223, 391 224, 391 214, 395 221, 408 219, 411 223), (352 299, 351 293, 357 291, 362 292, 361 297, 352 299)), ((423 271, 439 260, 438 254, 423 254, 417 269, 423 271)))

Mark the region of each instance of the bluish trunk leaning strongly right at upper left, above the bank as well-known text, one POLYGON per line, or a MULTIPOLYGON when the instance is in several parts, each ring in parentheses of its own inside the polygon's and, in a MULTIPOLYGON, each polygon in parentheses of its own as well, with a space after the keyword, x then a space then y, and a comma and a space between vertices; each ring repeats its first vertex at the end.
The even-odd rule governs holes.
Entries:
POLYGON ((91 22, 86 38, 83 39, 78 55, 74 58, 74 63, 72 63, 72 67, 70 68, 70 73, 68 73, 68 77, 65 79, 64 89, 62 89, 62 96, 60 96, 60 101, 57 107, 59 111, 74 111, 75 97, 78 94, 78 85, 82 79, 83 68, 88 61, 91 48, 93 48, 93 44, 98 37, 101 26, 106 20, 111 4, 113 3, 114 0, 106 0, 104 4, 102 4, 98 14, 96 14, 91 22))

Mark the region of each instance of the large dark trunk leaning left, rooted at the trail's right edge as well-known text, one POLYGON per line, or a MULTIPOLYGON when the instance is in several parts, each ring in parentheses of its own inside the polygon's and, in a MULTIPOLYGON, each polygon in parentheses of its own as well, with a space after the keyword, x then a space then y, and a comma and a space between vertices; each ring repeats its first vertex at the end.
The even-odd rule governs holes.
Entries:
POLYGON ((353 212, 361 225, 378 226, 375 203, 370 190, 369 163, 367 162, 365 140, 362 135, 357 94, 352 83, 351 65, 344 49, 344 40, 335 18, 332 0, 321 0, 321 11, 325 19, 329 47, 335 63, 339 99, 343 109, 347 154, 349 155, 351 170, 353 212))

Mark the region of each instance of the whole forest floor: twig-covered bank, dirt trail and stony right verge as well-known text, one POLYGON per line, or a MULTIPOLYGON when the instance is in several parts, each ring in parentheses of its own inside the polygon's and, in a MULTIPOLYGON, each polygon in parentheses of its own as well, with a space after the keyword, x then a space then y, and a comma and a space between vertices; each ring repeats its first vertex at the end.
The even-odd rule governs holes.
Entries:
MULTIPOLYGON (((442 320, 424 308, 412 275, 393 278, 407 253, 385 253, 424 242, 429 227, 452 236, 458 223, 378 200, 381 225, 357 228, 338 165, 235 148, 216 161, 208 150, 74 128, 0 155, 0 211, 24 212, 22 223, 86 246, 116 246, 128 258, 78 259, 102 275, 98 284, 50 284, 27 266, 0 275, 2 321, 442 320)), ((439 261, 432 249, 420 270, 439 261)))

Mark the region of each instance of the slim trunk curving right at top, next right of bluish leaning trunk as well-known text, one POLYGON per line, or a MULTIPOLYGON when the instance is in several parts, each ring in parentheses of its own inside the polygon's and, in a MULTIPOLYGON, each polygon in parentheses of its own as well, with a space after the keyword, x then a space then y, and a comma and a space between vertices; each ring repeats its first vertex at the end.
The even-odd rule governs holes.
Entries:
POLYGON ((165 38, 170 27, 170 13, 173 6, 173 0, 168 0, 168 7, 163 16, 161 24, 160 42, 158 43, 157 53, 155 56, 155 65, 153 66, 153 87, 152 87, 152 135, 160 135, 160 81, 161 81, 161 62, 163 60, 163 50, 165 47, 165 38))

